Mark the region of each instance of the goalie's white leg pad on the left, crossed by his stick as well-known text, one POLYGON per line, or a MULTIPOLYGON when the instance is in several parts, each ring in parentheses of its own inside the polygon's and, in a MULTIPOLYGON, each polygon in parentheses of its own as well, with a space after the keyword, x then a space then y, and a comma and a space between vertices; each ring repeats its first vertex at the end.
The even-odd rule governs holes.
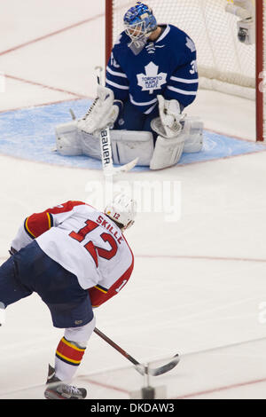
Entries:
MULTIPOLYGON (((88 155, 101 160, 99 132, 91 135, 77 128, 77 122, 55 129, 57 150, 62 155, 88 155)), ((149 166, 153 156, 153 134, 146 131, 110 130, 113 163, 126 164, 139 158, 138 166, 149 166)))

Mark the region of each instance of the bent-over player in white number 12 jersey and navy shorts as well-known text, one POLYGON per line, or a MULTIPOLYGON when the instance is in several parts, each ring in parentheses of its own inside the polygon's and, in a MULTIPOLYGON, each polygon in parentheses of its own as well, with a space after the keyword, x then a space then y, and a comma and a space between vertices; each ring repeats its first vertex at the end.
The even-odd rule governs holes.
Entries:
POLYGON ((117 295, 133 271, 134 256, 123 232, 134 223, 136 202, 114 196, 104 212, 67 201, 28 216, 12 240, 11 257, 0 267, 5 307, 37 293, 54 327, 65 328, 49 366, 50 399, 82 399, 71 385, 95 327, 93 308, 117 295))

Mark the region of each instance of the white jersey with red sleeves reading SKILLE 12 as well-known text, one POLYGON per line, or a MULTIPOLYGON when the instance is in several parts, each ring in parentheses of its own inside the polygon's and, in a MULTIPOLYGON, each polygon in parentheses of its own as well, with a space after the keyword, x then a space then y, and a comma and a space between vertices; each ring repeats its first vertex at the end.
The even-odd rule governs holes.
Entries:
POLYGON ((119 227, 82 201, 67 201, 28 216, 12 248, 36 240, 46 255, 76 275, 96 307, 116 295, 129 280, 134 257, 119 227))

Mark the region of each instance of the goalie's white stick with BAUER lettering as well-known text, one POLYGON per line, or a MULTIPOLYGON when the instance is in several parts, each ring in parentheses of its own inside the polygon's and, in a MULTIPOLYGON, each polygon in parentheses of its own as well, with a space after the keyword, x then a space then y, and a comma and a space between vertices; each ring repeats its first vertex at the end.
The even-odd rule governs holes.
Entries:
MULTIPOLYGON (((102 67, 95 67, 95 70, 98 71, 97 81, 99 85, 102 85, 101 73, 103 71, 102 67)), ((112 155, 112 145, 110 138, 110 129, 109 126, 106 129, 101 130, 100 132, 100 148, 101 148, 101 158, 102 166, 104 170, 104 175, 106 177, 113 177, 115 175, 121 174, 123 172, 129 172, 130 169, 133 169, 137 165, 138 158, 129 163, 122 165, 121 167, 113 167, 113 155, 112 155)))

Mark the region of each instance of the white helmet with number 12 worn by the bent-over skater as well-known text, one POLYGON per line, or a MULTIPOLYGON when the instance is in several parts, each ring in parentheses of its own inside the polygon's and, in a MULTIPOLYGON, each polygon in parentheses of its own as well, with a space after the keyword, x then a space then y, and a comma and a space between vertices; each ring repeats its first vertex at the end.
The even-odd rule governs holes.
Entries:
POLYGON ((123 230, 129 229, 137 215, 137 202, 125 194, 117 193, 113 201, 107 204, 104 213, 115 223, 121 224, 123 230))

